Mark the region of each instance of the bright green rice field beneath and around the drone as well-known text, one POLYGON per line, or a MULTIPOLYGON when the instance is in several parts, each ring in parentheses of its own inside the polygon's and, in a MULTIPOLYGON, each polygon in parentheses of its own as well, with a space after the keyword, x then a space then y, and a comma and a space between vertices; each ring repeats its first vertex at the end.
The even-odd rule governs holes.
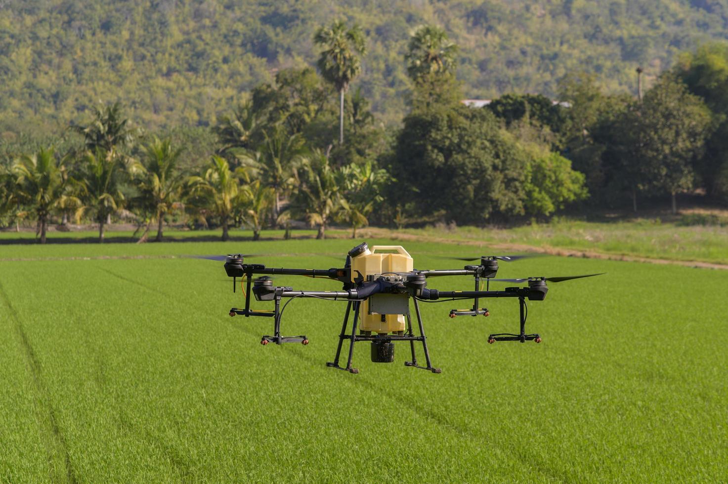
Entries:
MULTIPOLYGON (((486 344, 488 333, 517 329, 515 301, 493 300, 487 319, 451 320, 453 304, 422 304, 442 374, 405 368, 401 344, 390 365, 371 363, 359 344, 360 374, 350 375, 324 365, 344 304, 293 301, 284 333, 311 344, 264 347, 272 322, 227 315, 242 296, 221 263, 167 257, 242 251, 269 254, 259 261, 270 266, 330 267, 351 246, 0 246, 0 480, 728 479, 726 271, 503 263, 500 277, 608 274, 553 284, 546 301, 529 304, 540 345, 486 344)), ((435 255, 467 249, 405 248, 418 268, 444 268, 435 255)))

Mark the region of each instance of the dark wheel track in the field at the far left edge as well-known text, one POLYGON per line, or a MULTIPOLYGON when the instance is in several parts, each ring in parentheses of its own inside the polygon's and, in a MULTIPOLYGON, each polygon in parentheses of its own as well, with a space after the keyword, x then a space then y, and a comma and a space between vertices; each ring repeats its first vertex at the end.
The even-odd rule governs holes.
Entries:
POLYGON ((52 472, 52 469, 54 467, 53 461, 55 460, 54 456, 56 455, 60 455, 60 458, 63 460, 63 464, 66 467, 65 479, 63 479, 63 476, 51 475, 51 480, 66 480, 66 482, 68 483, 76 483, 78 482, 78 480, 76 479, 76 472, 74 471, 74 467, 71 464, 71 456, 68 454, 66 438, 63 437, 63 434, 60 432, 60 427, 58 427, 58 418, 55 414, 53 406, 50 403, 48 389, 44 385, 41 378, 41 366, 38 362, 38 358, 36 357, 35 352, 33 351, 33 346, 28 339, 28 335, 25 333, 23 324, 20 322, 20 318, 17 317, 17 312, 10 303, 10 299, 5 292, 4 287, 2 287, 1 282, 0 299, 2 299, 4 305, 7 306, 7 309, 10 313, 10 319, 12 319, 12 321, 15 323, 15 332, 17 333, 17 337, 20 338, 20 346, 23 347, 23 352, 25 353, 25 362, 27 362, 28 367, 30 367, 31 376, 33 378, 33 386, 35 386, 36 392, 38 392, 39 394, 39 405, 45 410, 45 415, 41 416, 41 425, 43 427, 46 427, 45 432, 47 432, 52 437, 51 442, 49 442, 47 439, 43 439, 44 443, 46 443, 46 452, 48 454, 47 460, 50 466, 50 471, 52 472), (61 478, 55 479, 54 477, 61 478))

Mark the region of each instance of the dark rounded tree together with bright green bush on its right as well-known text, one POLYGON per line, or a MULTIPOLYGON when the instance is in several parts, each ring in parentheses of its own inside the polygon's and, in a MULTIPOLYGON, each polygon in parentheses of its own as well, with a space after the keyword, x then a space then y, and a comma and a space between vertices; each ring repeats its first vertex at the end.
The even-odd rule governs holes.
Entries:
POLYGON ((519 142, 488 109, 407 116, 388 167, 398 182, 390 197, 400 207, 457 223, 547 215, 586 196, 568 159, 519 142))

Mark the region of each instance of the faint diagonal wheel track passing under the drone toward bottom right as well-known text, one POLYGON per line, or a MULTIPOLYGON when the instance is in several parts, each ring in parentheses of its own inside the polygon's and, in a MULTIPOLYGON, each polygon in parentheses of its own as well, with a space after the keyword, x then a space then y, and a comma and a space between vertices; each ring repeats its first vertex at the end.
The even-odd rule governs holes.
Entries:
MULTIPOLYGON (((139 287, 143 287, 146 290, 153 291, 155 293, 159 293, 162 295, 165 295, 167 297, 171 297, 170 295, 167 295, 162 290, 157 289, 156 287, 150 287, 146 284, 143 284, 143 282, 139 282, 135 279, 131 279, 129 277, 122 276, 121 274, 116 274, 113 271, 110 271, 108 269, 100 268, 100 270, 108 272, 108 274, 111 274, 114 277, 117 277, 119 279, 122 279, 125 282, 130 282, 134 285, 138 285, 139 287)), ((190 306, 191 309, 194 310, 194 312, 197 312, 198 314, 202 314, 204 317, 209 317, 209 312, 203 311, 202 309, 199 309, 195 306, 190 306)), ((243 333, 247 333, 251 336, 257 336, 257 332, 253 330, 252 328, 248 328, 247 326, 241 326, 241 325, 235 325, 233 324, 233 328, 242 331, 243 333)), ((341 350, 342 356, 344 356, 344 348, 342 347, 341 350)), ((319 360, 314 359, 314 357, 309 356, 308 354, 302 353, 302 352, 288 352, 288 354, 292 354, 294 357, 298 358, 299 360, 302 360, 304 362, 309 363, 309 365, 312 366, 320 366, 322 365, 322 362, 319 360)), ((413 402, 411 399, 406 397, 403 394, 400 394, 398 392, 394 392, 392 390, 387 390, 382 388, 381 386, 377 386, 372 381, 368 381, 365 378, 346 378, 345 381, 347 384, 351 382, 352 386, 356 385, 364 385, 367 386, 368 389, 373 390, 376 393, 382 394, 384 396, 392 398, 392 400, 397 400, 397 402, 400 402, 400 404, 403 405, 403 408, 409 408, 417 415, 432 421, 435 425, 437 425, 440 428, 446 429, 448 432, 456 432, 459 435, 466 436, 469 440, 475 440, 476 442, 478 440, 482 440, 482 435, 477 435, 475 432, 472 431, 469 427, 464 427, 462 425, 453 423, 451 421, 448 421, 447 418, 443 418, 439 413, 435 412, 434 410, 431 410, 429 407, 422 405, 419 402, 413 402)), ((165 446, 165 443, 162 443, 163 446, 165 446)), ((165 448, 167 448, 165 446, 165 448)), ((537 472, 542 472, 547 477, 550 477, 550 479, 553 480, 559 480, 559 481, 566 481, 569 480, 567 475, 563 475, 562 473, 558 472, 556 469, 552 469, 550 467, 547 467, 545 464, 541 464, 537 461, 537 459, 534 456, 527 455, 521 448, 517 448, 515 446, 510 446, 509 449, 507 449, 508 453, 510 455, 515 456, 519 461, 521 461, 526 467, 529 467, 531 469, 536 470, 537 472)), ((170 457, 172 459, 172 457, 170 457)), ((174 465, 181 464, 183 467, 180 470, 186 471, 186 473, 189 473, 189 467, 186 465, 186 463, 183 463, 182 461, 178 461, 177 459, 173 460, 174 465)))

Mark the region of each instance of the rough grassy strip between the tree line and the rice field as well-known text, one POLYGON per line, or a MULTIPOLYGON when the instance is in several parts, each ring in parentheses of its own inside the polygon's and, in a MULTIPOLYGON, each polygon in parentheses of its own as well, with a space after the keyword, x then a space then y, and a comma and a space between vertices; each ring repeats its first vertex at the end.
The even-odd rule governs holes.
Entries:
MULTIPOLYGON (((720 222, 720 220, 719 220, 720 222)), ((330 229, 329 237, 347 238, 351 231, 330 229)), ((215 241, 219 231, 167 230, 165 237, 178 241, 215 241)), ((247 242, 252 239, 251 231, 231 231, 232 239, 247 242)), ((293 231, 295 238, 312 238, 315 231, 293 231)), ((627 255, 633 257, 657 258, 675 261, 703 261, 728 264, 728 222, 721 225, 686 226, 681 223, 660 222, 649 219, 594 223, 564 221, 510 229, 488 227, 459 227, 446 229, 361 229, 360 237, 387 237, 391 239, 416 239, 431 242, 464 242, 470 246, 512 246, 516 249, 536 247, 539 250, 576 250, 586 253, 627 255)), ((282 239, 283 231, 264 230, 264 239, 282 239)), ((49 240, 54 242, 95 242, 95 231, 50 232, 49 240)), ((133 242, 132 231, 109 231, 107 242, 133 242)), ((154 233, 150 238, 154 237, 154 233)), ((35 234, 29 231, 0 232, 0 245, 7 243, 32 243, 35 234)), ((480 255, 478 250, 462 247, 464 255, 480 255)), ((243 252, 244 248, 240 249, 243 252)), ((448 249, 449 251, 450 249, 448 249)))

